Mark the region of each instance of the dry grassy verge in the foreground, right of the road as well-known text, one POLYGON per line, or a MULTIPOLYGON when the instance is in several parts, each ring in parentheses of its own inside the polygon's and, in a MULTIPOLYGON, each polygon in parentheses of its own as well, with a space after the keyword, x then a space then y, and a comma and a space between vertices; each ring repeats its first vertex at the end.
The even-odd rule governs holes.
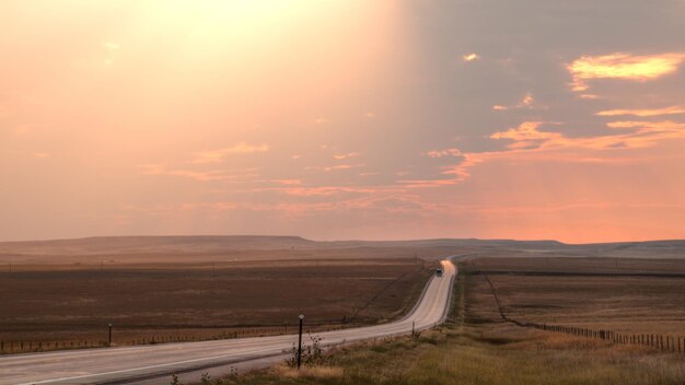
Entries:
MULTIPOLYGON (((205 378, 204 383, 685 384, 684 355, 503 322, 483 276, 468 268, 464 271, 455 282, 449 323, 418 338, 338 348, 328 353, 324 365, 300 372, 279 365, 222 380, 205 378)), ((567 294, 572 296, 572 292, 567 294)))

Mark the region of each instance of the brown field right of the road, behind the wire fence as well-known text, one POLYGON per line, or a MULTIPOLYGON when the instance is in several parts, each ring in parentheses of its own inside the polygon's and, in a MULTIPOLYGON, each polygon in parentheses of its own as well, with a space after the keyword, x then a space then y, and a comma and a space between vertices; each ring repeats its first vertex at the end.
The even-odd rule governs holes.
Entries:
POLYGON ((483 258, 469 272, 476 317, 617 332, 685 335, 685 261, 616 258, 483 258))

